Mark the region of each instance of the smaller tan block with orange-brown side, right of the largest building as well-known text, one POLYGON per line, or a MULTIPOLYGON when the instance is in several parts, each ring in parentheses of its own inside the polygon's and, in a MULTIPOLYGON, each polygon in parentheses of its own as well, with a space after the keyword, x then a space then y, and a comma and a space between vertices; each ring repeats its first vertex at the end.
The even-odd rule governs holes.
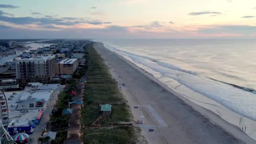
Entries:
POLYGON ((56 64, 57 75, 72 75, 78 68, 78 59, 64 59, 56 64))

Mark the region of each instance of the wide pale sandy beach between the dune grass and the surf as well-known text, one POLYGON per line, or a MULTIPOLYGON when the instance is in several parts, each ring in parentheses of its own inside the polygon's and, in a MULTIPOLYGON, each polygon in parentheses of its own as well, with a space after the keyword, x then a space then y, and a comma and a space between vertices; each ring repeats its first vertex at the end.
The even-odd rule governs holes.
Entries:
POLYGON ((237 126, 174 92, 151 74, 104 48, 102 43, 95 43, 94 47, 110 67, 131 107, 134 121, 144 117, 144 123, 136 126, 149 144, 256 143, 237 126))

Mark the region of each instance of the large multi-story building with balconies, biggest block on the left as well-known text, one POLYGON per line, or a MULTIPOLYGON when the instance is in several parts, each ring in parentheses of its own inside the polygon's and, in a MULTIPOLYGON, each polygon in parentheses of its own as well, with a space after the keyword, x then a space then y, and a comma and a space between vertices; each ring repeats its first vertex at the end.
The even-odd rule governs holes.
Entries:
POLYGON ((48 82, 56 73, 55 56, 35 56, 16 60, 16 77, 21 83, 48 82))

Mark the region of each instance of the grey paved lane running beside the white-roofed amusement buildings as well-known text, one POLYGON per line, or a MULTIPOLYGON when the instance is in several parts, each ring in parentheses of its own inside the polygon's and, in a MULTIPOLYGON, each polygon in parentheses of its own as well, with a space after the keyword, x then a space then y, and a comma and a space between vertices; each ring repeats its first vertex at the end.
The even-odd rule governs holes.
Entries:
MULTIPOLYGON (((64 88, 65 88, 65 85, 61 85, 60 88, 58 88, 58 90, 53 92, 51 99, 48 103, 48 106, 46 107, 46 109, 43 112, 43 115, 41 116, 40 123, 35 128, 35 131, 33 132, 33 134, 29 135, 29 138, 31 139, 30 144, 37 144, 37 139, 41 137, 41 134, 44 131, 46 124, 50 120, 49 115, 51 115, 51 109, 56 104, 56 99, 58 98, 58 94, 60 93, 60 91, 63 91, 64 88)), ((50 128, 51 128, 51 125, 49 123, 48 127, 46 128, 47 131, 50 131, 50 128)))

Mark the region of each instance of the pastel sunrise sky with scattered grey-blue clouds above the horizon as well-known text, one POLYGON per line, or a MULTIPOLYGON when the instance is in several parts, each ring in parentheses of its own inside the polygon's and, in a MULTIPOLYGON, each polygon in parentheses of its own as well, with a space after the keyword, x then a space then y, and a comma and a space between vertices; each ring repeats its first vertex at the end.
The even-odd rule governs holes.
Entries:
POLYGON ((256 38, 256 0, 1 0, 0 39, 256 38))

